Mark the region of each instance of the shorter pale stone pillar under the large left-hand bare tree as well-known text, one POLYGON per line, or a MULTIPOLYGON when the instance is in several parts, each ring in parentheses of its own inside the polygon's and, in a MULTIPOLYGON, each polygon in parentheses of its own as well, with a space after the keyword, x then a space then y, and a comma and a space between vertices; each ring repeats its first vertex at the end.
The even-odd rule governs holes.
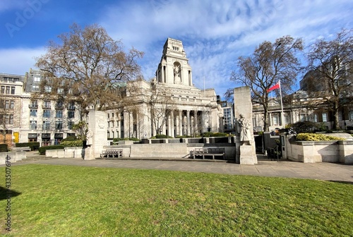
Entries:
POLYGON ((107 114, 104 111, 89 111, 85 159, 100 157, 100 152, 107 143, 107 114))

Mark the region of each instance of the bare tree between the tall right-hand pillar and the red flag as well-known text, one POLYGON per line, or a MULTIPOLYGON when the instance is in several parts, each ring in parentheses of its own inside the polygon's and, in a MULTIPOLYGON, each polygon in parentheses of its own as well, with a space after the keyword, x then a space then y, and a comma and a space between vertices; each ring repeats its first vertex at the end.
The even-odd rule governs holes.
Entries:
MULTIPOLYGON (((296 54, 302 50, 302 39, 284 36, 274 43, 261 43, 251 56, 238 58, 237 70, 232 72, 230 80, 250 87, 253 102, 263 106, 265 131, 268 131, 268 89, 280 80, 282 94, 291 90, 301 69, 296 54)), ((225 96, 229 98, 232 90, 227 90, 225 96)))

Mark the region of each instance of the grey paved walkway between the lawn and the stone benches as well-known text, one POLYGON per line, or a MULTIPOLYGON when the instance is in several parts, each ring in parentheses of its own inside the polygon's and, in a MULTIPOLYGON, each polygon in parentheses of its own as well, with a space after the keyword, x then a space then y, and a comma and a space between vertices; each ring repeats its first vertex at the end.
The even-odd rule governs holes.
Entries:
MULTIPOLYGON (((261 158, 259 156, 259 158, 261 158)), ((343 181, 353 184, 353 165, 316 163, 304 164, 290 161, 269 161, 259 159, 255 165, 241 165, 231 162, 202 162, 181 160, 149 160, 149 159, 95 159, 79 158, 40 159, 35 161, 14 163, 20 164, 56 164, 95 166, 127 169, 162 169, 171 171, 192 171, 216 174, 274 176, 287 178, 311 178, 325 181, 343 181)))

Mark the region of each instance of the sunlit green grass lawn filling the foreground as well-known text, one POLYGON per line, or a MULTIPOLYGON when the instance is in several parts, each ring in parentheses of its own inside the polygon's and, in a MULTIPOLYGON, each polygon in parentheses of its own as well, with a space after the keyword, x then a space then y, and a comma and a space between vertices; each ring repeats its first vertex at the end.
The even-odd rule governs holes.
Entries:
POLYGON ((349 183, 40 164, 11 175, 3 236, 353 236, 349 183))

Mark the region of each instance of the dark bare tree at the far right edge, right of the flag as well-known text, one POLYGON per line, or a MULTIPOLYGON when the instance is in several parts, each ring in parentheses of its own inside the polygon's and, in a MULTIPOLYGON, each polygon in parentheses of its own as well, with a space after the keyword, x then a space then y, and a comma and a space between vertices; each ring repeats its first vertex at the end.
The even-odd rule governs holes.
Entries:
POLYGON ((332 40, 318 39, 311 44, 307 54, 308 90, 327 92, 323 96, 321 106, 333 111, 333 129, 339 128, 340 109, 353 102, 352 33, 352 29, 341 30, 332 40))

